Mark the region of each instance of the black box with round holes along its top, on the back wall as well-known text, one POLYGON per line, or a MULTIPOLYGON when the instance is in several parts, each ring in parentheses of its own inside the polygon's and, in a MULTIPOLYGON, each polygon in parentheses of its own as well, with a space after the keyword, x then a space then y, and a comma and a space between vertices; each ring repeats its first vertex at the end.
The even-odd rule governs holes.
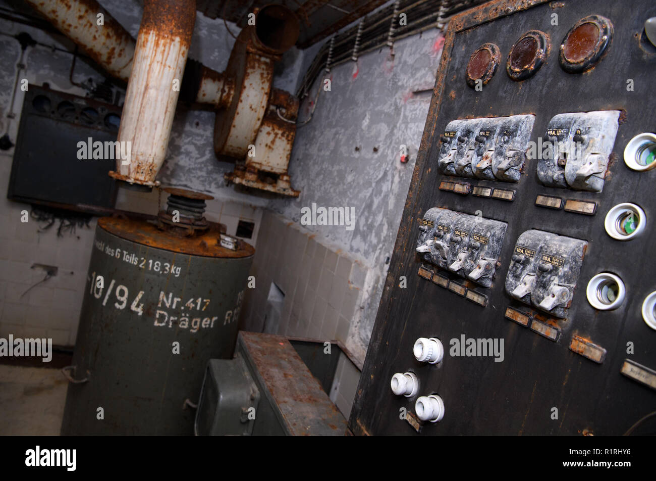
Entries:
MULTIPOLYGON (((7 197, 103 214, 116 200, 121 108, 30 85, 25 93, 7 197)), ((119 150, 126 156, 128 149, 119 150)))

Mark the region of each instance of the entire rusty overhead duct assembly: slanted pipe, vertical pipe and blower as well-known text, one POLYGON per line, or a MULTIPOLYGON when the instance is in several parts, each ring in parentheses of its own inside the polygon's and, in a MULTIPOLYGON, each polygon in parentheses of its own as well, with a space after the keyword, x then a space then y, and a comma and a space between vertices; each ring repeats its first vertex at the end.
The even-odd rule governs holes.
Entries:
POLYGON ((226 174, 228 181, 299 195, 287 174, 298 100, 272 90, 274 62, 298 38, 298 18, 287 7, 255 9, 255 25, 237 37, 226 71, 216 72, 195 60, 186 62, 195 20, 193 0, 146 1, 136 43, 95 0, 28 3, 108 73, 129 80, 118 140, 131 142, 131 158, 129 163, 117 160, 112 177, 145 188, 157 185, 179 95, 184 101, 215 106, 216 155, 237 163, 235 172, 226 174))

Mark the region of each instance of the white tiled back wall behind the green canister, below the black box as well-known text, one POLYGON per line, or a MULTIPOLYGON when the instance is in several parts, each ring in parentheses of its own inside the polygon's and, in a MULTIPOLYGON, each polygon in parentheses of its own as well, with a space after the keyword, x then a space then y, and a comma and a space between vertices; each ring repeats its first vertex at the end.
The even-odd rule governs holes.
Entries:
MULTIPOLYGON (((31 212, 29 204, 7 200, 7 187, 12 156, 0 154, 0 337, 47 337, 53 344, 75 344, 82 306, 87 268, 96 229, 96 218, 89 228, 78 227, 72 235, 57 237, 58 223, 41 231, 35 219, 21 222, 21 212, 31 212), (58 267, 55 277, 39 283, 45 271, 32 269, 34 263, 58 267), (37 284, 38 283, 38 284, 37 284)), ((161 206, 166 204, 165 193, 161 206)), ((140 193, 120 189, 116 208, 131 212, 155 214, 160 202, 159 191, 140 193)), ((206 218, 228 225, 234 235, 239 219, 255 222, 255 244, 262 210, 241 204, 210 200, 206 218)))

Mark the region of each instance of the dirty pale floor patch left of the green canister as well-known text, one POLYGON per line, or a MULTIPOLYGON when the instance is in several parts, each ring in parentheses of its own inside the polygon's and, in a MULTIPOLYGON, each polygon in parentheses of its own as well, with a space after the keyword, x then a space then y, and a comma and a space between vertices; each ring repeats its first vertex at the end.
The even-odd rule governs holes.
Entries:
POLYGON ((0 435, 58 436, 67 386, 60 369, 0 364, 0 435))

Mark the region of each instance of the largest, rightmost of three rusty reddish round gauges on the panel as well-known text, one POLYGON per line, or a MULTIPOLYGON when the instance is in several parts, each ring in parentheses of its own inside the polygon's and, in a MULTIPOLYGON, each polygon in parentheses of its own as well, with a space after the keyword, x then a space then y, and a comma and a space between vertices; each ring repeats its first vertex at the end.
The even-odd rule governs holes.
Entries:
POLYGON ((613 24, 600 15, 581 18, 560 44, 560 66, 571 74, 593 68, 613 40, 613 24))

